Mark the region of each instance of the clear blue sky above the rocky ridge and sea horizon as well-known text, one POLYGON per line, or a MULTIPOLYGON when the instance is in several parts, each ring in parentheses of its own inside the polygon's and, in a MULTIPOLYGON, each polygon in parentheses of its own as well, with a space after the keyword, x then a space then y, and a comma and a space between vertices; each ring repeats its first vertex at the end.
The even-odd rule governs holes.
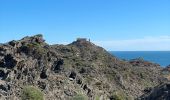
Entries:
POLYGON ((0 0, 0 43, 43 34, 109 51, 169 51, 170 0, 0 0))

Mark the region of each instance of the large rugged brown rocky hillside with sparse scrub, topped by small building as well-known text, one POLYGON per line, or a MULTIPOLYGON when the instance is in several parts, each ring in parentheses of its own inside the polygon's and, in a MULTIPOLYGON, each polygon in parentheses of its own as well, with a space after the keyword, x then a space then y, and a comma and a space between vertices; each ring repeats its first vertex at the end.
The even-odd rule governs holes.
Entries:
POLYGON ((85 39, 48 45, 36 35, 0 45, 0 98, 22 99, 23 88, 33 86, 45 100, 134 100, 164 81, 162 70, 120 60, 85 39))

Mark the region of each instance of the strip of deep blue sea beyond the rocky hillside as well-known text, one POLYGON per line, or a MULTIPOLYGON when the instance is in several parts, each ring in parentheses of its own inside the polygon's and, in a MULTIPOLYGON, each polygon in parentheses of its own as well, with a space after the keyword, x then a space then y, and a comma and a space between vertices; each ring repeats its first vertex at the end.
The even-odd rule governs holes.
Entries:
POLYGON ((170 65, 170 51, 110 51, 110 53, 120 59, 130 60, 142 57, 162 67, 170 65))

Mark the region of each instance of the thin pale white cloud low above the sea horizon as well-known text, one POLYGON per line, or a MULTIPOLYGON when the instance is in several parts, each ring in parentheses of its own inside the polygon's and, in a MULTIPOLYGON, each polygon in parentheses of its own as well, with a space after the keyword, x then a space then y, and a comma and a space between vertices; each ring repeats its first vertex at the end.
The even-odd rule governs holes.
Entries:
POLYGON ((113 51, 167 51, 170 50, 170 36, 144 37, 139 39, 93 41, 113 51))

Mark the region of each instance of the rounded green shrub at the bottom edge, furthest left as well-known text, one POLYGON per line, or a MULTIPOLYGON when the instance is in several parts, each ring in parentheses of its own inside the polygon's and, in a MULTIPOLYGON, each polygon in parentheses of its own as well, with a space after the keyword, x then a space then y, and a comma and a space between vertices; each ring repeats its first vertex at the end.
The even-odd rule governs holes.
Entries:
POLYGON ((33 86, 26 86, 22 90, 22 100, 44 100, 43 93, 33 86))

